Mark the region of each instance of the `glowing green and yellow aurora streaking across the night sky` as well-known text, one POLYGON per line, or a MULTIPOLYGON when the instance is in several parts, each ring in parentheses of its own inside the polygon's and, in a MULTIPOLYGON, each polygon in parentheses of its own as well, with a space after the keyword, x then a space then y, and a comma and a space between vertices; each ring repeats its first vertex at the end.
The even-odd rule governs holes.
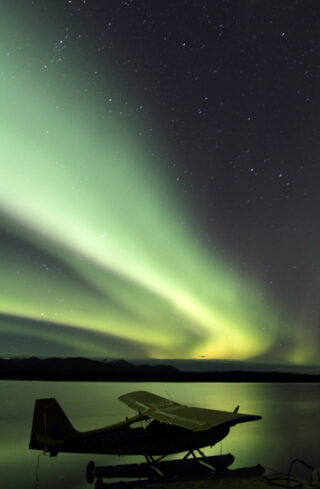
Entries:
MULTIPOLYGON (((0 212, 8 237, 0 331, 10 326, 87 355, 266 353, 279 314, 254 280, 201 242, 179 185, 169 183, 147 137, 134 136, 138 118, 129 124, 96 93, 98 81, 84 92, 80 61, 71 71, 50 62, 36 39, 22 41, 20 28, 8 21, 0 39, 0 212)), ((100 81, 104 93, 115 92, 110 73, 100 81)), ((300 345, 283 360, 311 361, 310 349, 300 345)))

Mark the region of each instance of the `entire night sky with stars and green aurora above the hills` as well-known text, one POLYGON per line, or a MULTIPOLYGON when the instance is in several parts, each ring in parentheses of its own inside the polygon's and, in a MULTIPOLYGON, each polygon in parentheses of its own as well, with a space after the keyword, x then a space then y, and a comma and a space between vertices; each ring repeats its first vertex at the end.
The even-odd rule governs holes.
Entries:
POLYGON ((4 0, 0 355, 319 364, 317 0, 4 0))

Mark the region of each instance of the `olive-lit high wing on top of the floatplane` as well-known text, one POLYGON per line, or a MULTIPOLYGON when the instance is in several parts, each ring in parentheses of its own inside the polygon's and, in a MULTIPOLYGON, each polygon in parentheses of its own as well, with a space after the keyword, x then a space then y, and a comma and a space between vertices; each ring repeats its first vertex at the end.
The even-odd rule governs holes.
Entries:
POLYGON ((145 416, 192 431, 205 431, 217 426, 233 426, 261 419, 261 416, 251 414, 188 407, 146 391, 130 392, 120 396, 119 400, 145 416))

